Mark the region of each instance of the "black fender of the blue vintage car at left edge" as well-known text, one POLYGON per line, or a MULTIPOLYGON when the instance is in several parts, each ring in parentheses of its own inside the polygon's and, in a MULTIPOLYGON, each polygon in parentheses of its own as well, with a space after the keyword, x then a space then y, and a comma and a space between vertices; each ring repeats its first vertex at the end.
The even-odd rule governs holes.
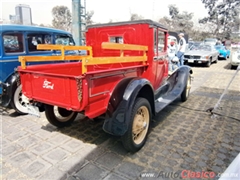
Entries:
POLYGON ((12 95, 17 88, 17 81, 20 81, 20 77, 17 73, 12 74, 2 85, 2 102, 3 107, 8 107, 12 100, 12 95))

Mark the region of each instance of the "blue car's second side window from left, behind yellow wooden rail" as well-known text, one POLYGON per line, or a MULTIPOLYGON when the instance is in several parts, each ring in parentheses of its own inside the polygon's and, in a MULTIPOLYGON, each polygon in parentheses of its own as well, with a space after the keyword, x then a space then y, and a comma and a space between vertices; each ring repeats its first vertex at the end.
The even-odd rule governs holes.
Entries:
POLYGON ((51 44, 51 35, 49 34, 28 34, 27 35, 27 46, 29 52, 34 51, 49 51, 37 49, 38 44, 51 44))

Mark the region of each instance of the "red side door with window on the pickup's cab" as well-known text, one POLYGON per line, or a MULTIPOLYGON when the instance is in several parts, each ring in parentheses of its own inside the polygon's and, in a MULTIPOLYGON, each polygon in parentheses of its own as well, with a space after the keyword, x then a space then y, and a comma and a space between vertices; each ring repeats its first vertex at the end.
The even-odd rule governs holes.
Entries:
POLYGON ((167 32, 164 32, 160 28, 156 29, 154 41, 154 63, 156 64, 155 89, 157 89, 168 76, 167 32))

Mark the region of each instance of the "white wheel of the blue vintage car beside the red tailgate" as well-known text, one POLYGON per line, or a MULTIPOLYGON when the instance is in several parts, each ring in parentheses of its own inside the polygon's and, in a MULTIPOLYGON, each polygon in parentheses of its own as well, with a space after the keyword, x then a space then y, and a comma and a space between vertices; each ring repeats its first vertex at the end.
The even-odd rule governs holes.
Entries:
POLYGON ((11 107, 21 115, 28 114, 27 106, 30 103, 29 99, 22 94, 22 85, 17 86, 17 83, 13 84, 13 94, 11 99, 11 107))

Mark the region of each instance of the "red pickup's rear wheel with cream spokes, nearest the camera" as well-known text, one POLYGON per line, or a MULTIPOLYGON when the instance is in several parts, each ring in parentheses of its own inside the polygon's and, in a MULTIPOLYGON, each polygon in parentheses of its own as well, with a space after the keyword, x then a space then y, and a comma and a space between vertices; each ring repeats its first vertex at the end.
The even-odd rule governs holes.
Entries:
POLYGON ((121 139, 127 151, 137 152, 144 146, 149 133, 152 111, 148 100, 145 98, 137 98, 129 118, 128 130, 121 139), (141 114, 138 114, 140 111, 141 114), (145 115, 145 117, 143 115, 145 115), (138 128, 138 132, 134 133, 134 128, 135 130, 138 128), (137 137, 134 137, 134 135, 137 137))

